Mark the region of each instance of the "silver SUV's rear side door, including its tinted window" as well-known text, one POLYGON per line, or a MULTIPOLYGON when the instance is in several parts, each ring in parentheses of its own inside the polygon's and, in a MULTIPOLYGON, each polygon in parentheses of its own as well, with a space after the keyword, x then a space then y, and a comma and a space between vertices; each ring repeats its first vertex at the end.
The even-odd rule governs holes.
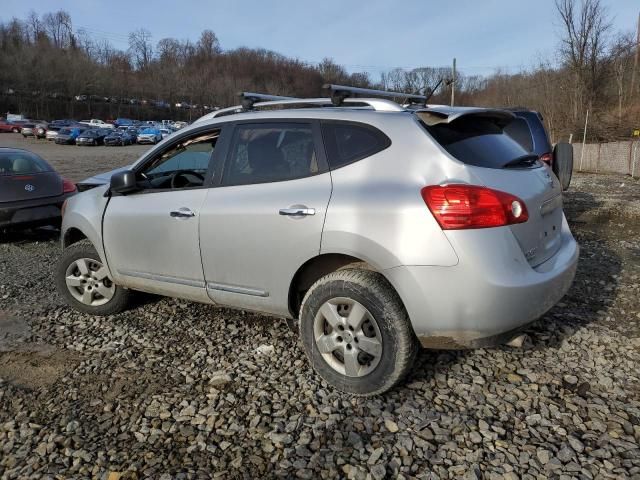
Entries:
POLYGON ((320 252, 331 176, 315 121, 238 123, 200 215, 207 292, 286 316, 290 282, 320 252))

